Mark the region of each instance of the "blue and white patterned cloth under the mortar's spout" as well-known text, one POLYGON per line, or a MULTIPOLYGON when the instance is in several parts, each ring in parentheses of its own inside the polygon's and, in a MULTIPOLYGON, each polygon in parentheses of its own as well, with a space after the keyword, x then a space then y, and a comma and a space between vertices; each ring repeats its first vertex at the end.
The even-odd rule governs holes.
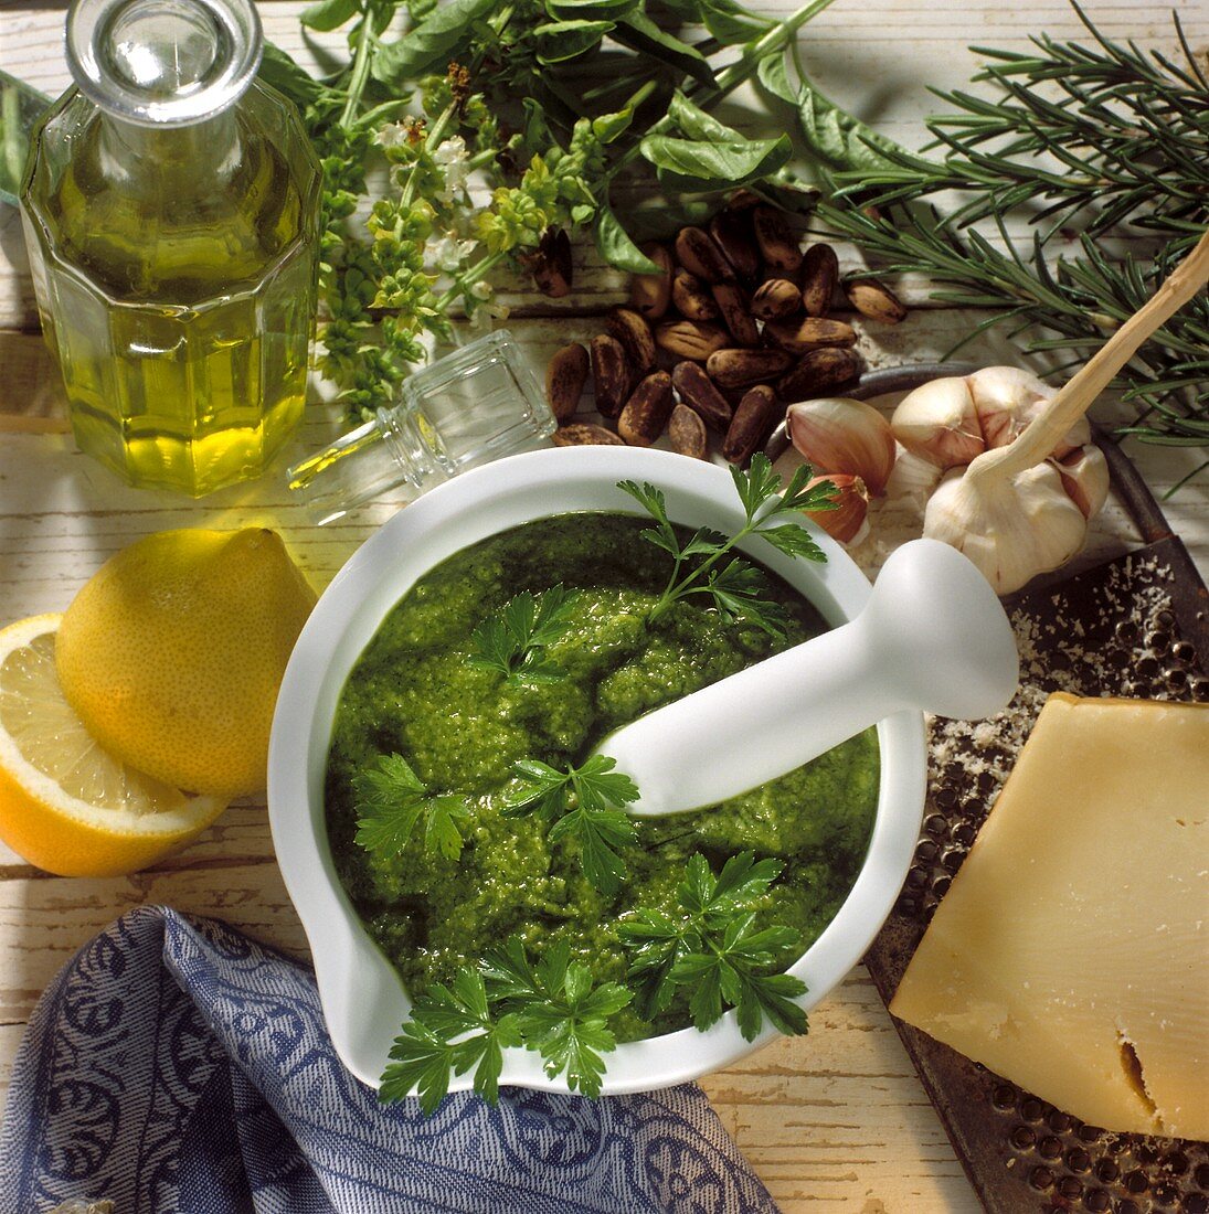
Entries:
POLYGON ((17 1055, 0 1210, 69 1198, 115 1214, 775 1214, 695 1085, 383 1108, 337 1059, 310 969, 159 907, 80 949, 17 1055))

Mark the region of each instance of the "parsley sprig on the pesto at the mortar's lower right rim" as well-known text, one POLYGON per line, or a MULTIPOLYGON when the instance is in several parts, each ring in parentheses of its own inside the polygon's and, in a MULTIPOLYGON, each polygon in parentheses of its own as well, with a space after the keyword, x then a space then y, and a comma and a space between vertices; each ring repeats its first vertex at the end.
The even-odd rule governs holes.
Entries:
POLYGON ((649 1020, 666 1011, 683 988, 691 992, 689 1011, 702 1032, 728 1006, 738 1010, 747 1040, 759 1034, 765 1016, 781 1033, 807 1031, 806 1012, 793 1002, 806 983, 778 971, 801 951, 802 937, 791 927, 755 927, 756 907, 780 872, 779 861, 757 862, 744 851, 714 877, 697 853, 677 890, 678 914, 640 909, 621 923, 639 1015, 649 1020))

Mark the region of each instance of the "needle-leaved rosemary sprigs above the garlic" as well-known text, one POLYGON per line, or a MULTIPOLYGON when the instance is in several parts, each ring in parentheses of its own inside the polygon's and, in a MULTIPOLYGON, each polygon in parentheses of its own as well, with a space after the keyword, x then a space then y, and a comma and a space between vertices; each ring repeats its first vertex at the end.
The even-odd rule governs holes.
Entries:
MULTIPOLYGON (((921 153, 834 106, 800 62, 796 84, 784 57, 761 69, 830 177, 823 233, 888 272, 926 274, 937 300, 992 310, 966 340, 1007 322, 1012 336, 1041 330, 1029 348, 1069 353, 1068 365, 1151 297, 1209 223, 1209 76, 1179 18, 1174 61, 1106 38, 1075 8, 1090 44, 1043 34, 1023 53, 974 47, 983 87, 938 93, 950 112, 928 120, 921 153), (942 212, 948 192, 960 197, 942 212), (1115 255, 1115 237, 1145 251, 1115 255)), ((1119 386, 1139 410, 1120 433, 1209 444, 1209 299, 1173 317, 1119 386)))

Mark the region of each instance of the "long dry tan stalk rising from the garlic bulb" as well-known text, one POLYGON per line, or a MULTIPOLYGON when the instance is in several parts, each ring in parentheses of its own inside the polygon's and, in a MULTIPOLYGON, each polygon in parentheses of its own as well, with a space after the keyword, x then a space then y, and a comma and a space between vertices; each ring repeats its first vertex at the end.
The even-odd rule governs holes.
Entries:
POLYGON ((1092 401, 1134 357, 1137 347, 1165 324, 1209 282, 1209 232, 1176 266, 1154 296, 1135 312, 1096 351, 1085 367, 1058 390, 1058 395, 1021 431, 1016 442, 985 452, 970 465, 974 477, 1015 476, 1040 463, 1087 412, 1092 401))

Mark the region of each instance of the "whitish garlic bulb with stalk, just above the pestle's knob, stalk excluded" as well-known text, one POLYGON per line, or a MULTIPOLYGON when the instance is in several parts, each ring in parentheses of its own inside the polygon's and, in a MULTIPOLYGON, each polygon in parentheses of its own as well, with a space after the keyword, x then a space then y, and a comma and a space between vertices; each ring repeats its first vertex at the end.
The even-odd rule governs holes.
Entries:
POLYGON ((927 504, 923 534, 964 552, 995 592, 1006 595, 1066 565, 1083 548, 1087 520, 1052 464, 1006 477, 954 469, 927 504))

